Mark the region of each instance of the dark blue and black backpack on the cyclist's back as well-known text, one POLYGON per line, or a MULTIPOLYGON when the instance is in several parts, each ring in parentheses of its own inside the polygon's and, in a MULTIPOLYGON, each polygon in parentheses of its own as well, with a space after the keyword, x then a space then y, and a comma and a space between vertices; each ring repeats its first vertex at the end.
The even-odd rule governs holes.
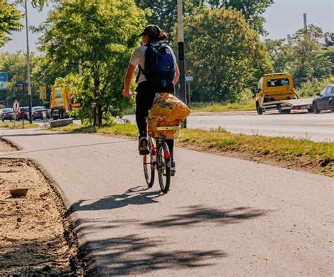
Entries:
POLYGON ((166 44, 147 44, 145 69, 140 68, 140 72, 154 86, 166 87, 173 83, 175 64, 171 49, 166 44))

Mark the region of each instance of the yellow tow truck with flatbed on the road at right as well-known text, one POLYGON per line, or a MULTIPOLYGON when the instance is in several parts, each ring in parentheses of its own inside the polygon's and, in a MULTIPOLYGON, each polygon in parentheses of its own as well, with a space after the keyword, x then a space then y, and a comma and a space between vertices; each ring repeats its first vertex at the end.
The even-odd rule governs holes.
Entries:
POLYGON ((264 75, 256 90, 255 105, 259 115, 269 110, 279 113, 290 113, 291 110, 307 110, 313 112, 314 98, 299 99, 293 85, 292 76, 286 72, 264 75))

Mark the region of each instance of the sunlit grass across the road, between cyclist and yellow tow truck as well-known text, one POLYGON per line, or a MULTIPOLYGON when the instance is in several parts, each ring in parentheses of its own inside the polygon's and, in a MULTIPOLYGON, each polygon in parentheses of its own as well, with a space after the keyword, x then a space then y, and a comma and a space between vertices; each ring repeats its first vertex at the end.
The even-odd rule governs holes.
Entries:
POLYGON ((230 112, 235 110, 255 110, 254 101, 241 103, 192 103, 192 112, 230 112))

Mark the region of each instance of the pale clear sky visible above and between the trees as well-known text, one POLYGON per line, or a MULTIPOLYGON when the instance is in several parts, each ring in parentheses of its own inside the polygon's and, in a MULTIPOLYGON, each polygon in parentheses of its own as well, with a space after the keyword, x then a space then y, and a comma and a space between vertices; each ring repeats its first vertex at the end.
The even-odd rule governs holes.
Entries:
MULTIPOLYGON (((28 24, 38 26, 44 22, 50 10, 51 7, 46 7, 39 13, 28 5, 28 24)), ((266 18, 264 28, 268 36, 261 39, 285 39, 287 34, 294 34, 304 27, 303 13, 307 13, 307 24, 322 27, 324 32, 334 32, 334 0, 275 0, 275 3, 264 13, 266 18)), ((24 18, 22 22, 25 25, 24 18)), ((39 34, 31 32, 29 34, 30 51, 35 53, 38 53, 36 45, 38 37, 39 34)), ((1 50, 11 53, 27 50, 25 28, 11 35, 11 38, 13 40, 6 43, 1 50)))

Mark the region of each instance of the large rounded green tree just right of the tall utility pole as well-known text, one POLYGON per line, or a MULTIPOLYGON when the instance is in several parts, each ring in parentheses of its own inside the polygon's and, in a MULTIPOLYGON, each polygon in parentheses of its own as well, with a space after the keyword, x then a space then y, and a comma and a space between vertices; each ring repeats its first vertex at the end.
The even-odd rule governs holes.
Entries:
POLYGON ((194 101, 236 101, 271 71, 266 47, 240 11, 204 8, 185 17, 185 34, 194 101))

